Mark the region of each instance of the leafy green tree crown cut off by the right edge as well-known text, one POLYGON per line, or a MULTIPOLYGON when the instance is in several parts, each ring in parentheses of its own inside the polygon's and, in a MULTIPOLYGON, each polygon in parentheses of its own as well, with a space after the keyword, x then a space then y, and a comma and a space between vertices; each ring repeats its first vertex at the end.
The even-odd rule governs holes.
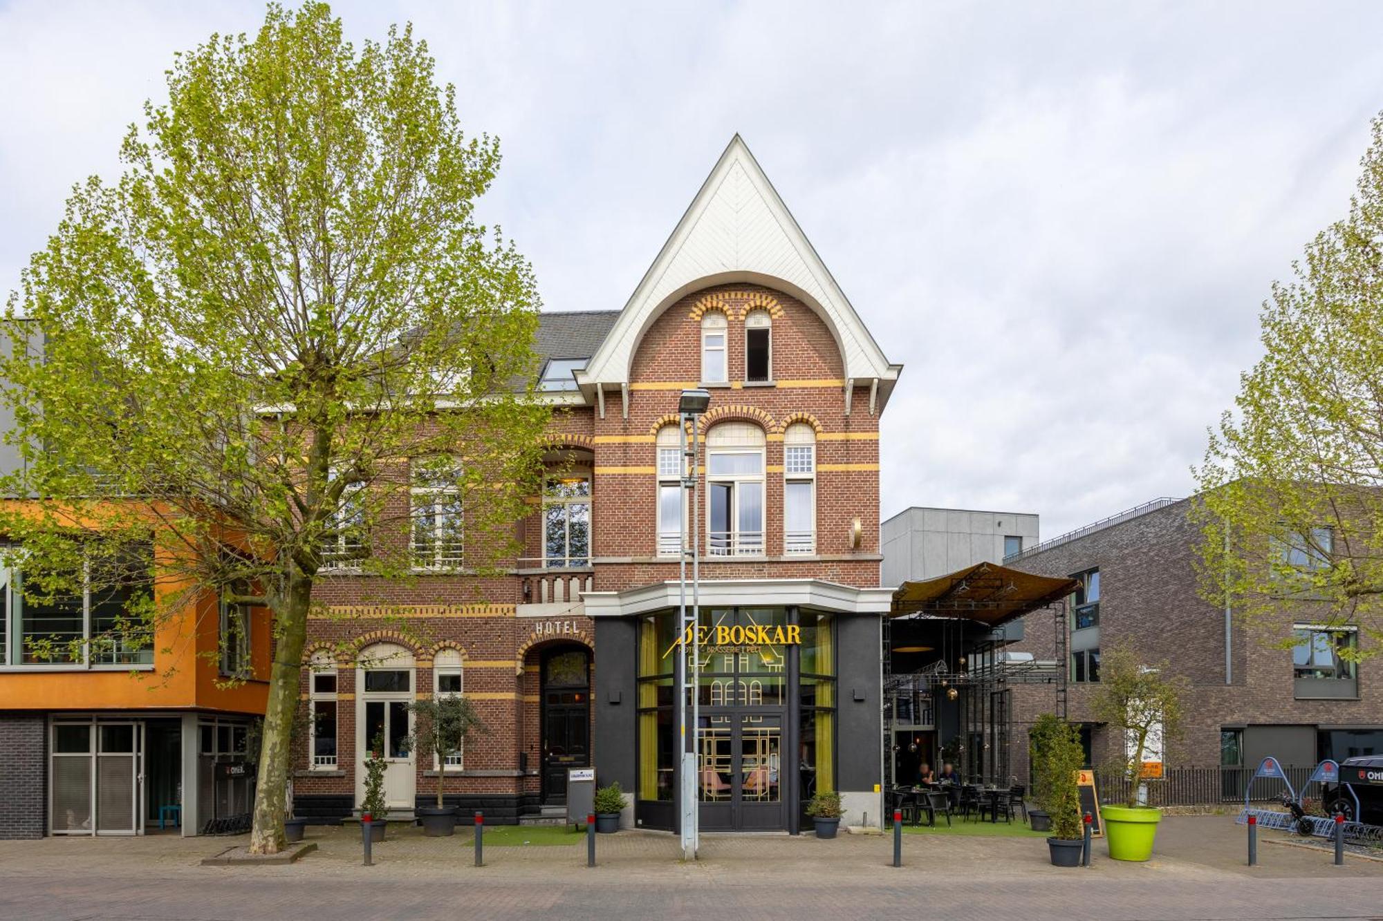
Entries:
POLYGON ((1383 116, 1350 212, 1272 285, 1263 358, 1196 472, 1202 595, 1282 636, 1283 599, 1383 638, 1383 116))

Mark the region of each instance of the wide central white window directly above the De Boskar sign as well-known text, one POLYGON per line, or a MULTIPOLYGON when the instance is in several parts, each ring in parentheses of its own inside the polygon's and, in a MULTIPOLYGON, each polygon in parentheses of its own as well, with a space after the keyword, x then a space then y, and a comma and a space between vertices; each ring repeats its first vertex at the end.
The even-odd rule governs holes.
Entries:
POLYGON ((723 422, 705 438, 707 552, 763 553, 763 430, 723 422))

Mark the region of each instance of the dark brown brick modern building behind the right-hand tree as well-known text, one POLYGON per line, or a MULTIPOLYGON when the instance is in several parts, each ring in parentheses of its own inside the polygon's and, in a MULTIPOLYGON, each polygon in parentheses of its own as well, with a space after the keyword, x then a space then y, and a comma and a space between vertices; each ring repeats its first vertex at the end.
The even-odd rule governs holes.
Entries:
MULTIPOLYGON (((1192 685, 1185 738, 1167 766, 1256 766, 1265 755, 1310 766, 1321 758, 1383 752, 1383 686, 1377 664, 1353 664, 1342 647, 1368 642, 1351 628, 1319 629, 1310 603, 1283 602, 1272 625, 1246 629, 1232 606, 1196 592, 1195 499, 1156 499, 1046 541, 1005 560, 1041 575, 1080 579, 1068 615, 1069 718, 1086 726, 1098 763, 1122 744, 1090 722, 1099 651, 1131 643, 1148 662, 1167 661, 1192 685), (1294 644, 1283 647, 1283 640, 1294 644)), ((1029 617, 1012 650, 1051 658, 1052 621, 1029 617)), ((1014 689, 1014 765, 1026 774, 1022 740, 1051 711, 1047 687, 1014 689)))

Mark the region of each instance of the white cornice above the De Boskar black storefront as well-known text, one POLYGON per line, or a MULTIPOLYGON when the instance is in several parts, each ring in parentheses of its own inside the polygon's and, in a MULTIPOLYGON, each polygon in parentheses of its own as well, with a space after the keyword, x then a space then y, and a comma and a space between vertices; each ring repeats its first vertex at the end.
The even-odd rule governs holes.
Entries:
MULTIPOLYGON (((653 582, 622 592, 582 592, 586 617, 631 617, 676 607, 678 582, 653 582)), ((893 589, 855 588, 823 579, 701 579, 701 607, 812 607, 837 614, 887 614, 893 589)), ((692 588, 687 585, 687 604, 692 588)))

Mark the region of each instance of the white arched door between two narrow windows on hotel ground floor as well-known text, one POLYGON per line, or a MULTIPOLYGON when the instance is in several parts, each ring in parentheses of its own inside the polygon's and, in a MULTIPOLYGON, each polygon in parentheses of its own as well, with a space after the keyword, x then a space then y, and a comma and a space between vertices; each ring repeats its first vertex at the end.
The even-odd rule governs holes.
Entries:
POLYGON ((355 672, 355 805, 365 798, 365 755, 384 752, 384 802, 390 809, 412 809, 418 768, 412 747, 414 657, 400 647, 379 644, 361 653, 355 672))

